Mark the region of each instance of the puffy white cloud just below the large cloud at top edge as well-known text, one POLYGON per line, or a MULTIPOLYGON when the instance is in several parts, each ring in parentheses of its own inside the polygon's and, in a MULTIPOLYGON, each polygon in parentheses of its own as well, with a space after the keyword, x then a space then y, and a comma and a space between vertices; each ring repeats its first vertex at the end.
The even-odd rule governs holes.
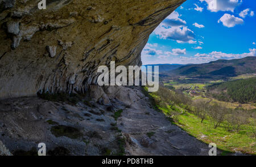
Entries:
POLYGON ((234 27, 237 24, 243 24, 243 19, 236 18, 234 15, 230 14, 224 14, 220 20, 218 20, 218 23, 222 22, 222 24, 225 27, 234 27))

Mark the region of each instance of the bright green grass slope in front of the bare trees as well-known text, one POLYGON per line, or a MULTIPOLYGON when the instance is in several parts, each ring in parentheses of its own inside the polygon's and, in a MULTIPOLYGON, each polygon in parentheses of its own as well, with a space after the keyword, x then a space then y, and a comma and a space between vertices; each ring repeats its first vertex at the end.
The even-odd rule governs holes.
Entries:
POLYGON ((216 143, 217 147, 224 151, 256 155, 256 139, 253 134, 255 121, 243 126, 240 132, 228 132, 223 126, 225 122, 213 129, 209 118, 201 123, 201 119, 186 112, 178 116, 175 124, 205 143, 216 143))

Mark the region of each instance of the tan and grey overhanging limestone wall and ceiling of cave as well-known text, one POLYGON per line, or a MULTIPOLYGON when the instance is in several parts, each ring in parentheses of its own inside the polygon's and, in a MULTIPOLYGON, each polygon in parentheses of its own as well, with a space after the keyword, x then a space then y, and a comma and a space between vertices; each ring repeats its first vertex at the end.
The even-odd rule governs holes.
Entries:
POLYGON ((184 1, 0 0, 0 98, 85 92, 100 65, 141 65, 150 33, 184 1))

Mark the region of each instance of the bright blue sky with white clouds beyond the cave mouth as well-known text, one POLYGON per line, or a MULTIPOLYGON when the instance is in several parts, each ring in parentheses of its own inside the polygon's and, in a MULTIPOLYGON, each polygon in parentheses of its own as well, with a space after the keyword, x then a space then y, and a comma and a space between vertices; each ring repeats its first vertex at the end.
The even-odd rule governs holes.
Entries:
POLYGON ((187 0, 152 32, 142 63, 207 63, 256 56, 255 25, 255 0, 187 0))

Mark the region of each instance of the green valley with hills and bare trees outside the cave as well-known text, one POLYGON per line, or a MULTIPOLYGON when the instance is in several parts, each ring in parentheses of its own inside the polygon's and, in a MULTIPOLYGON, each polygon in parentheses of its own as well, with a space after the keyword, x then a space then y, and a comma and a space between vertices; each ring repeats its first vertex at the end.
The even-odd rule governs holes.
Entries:
POLYGON ((225 63, 218 60, 214 63, 218 67, 214 67, 215 72, 212 62, 160 71, 162 87, 150 93, 155 108, 197 139, 216 143, 224 150, 223 155, 230 152, 255 155, 256 77, 255 71, 246 73, 255 68, 247 59, 255 60, 243 58, 225 63), (243 70, 238 69, 237 62, 242 63, 243 70), (216 75, 216 71, 227 65, 238 70, 234 70, 233 75, 225 72, 216 75), (184 75, 183 68, 191 69, 192 66, 208 73, 193 71, 192 75, 185 70, 188 73, 184 75))

